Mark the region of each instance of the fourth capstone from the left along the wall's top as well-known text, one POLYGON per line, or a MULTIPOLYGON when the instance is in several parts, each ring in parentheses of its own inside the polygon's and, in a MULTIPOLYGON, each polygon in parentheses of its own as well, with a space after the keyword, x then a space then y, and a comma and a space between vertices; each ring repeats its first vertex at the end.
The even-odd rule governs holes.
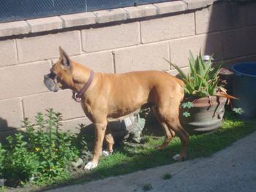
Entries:
POLYGON ((94 12, 97 23, 110 23, 118 20, 127 20, 127 12, 124 9, 108 9, 94 12))

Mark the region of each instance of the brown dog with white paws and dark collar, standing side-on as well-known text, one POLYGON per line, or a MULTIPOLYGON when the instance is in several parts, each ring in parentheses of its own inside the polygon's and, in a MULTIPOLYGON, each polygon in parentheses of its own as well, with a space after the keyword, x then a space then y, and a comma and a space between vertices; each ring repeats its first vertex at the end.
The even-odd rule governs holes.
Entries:
POLYGON ((94 169, 102 155, 103 140, 107 151, 113 151, 113 137, 107 128, 108 121, 125 118, 133 112, 151 107, 165 131, 166 147, 175 133, 181 139, 181 152, 173 158, 185 158, 189 134, 178 119, 179 106, 184 97, 183 82, 165 72, 128 72, 105 74, 94 72, 86 66, 71 61, 59 48, 60 58, 45 75, 45 85, 50 91, 69 88, 80 100, 83 111, 95 126, 94 157, 84 169, 94 169))

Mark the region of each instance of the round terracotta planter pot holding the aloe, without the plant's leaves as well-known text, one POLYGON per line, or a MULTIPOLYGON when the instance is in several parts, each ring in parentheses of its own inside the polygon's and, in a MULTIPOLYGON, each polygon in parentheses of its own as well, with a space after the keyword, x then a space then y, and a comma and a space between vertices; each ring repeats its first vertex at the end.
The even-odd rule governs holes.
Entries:
POLYGON ((204 134, 222 126, 222 118, 225 112, 227 99, 223 97, 211 96, 195 99, 191 101, 194 105, 191 109, 181 109, 181 125, 189 134, 204 134), (189 117, 184 117, 183 112, 189 112, 189 117))

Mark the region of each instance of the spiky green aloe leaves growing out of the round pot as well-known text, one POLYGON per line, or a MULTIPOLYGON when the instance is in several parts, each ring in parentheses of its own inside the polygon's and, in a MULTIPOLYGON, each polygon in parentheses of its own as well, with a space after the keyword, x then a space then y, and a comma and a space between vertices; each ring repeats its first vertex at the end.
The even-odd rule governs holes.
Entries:
POLYGON ((212 66, 212 56, 208 61, 203 61, 201 53, 194 58, 191 52, 189 52, 189 69, 190 72, 186 74, 176 64, 171 66, 178 71, 184 81, 184 91, 187 96, 204 97, 214 96, 217 93, 218 87, 218 73, 221 64, 212 66))

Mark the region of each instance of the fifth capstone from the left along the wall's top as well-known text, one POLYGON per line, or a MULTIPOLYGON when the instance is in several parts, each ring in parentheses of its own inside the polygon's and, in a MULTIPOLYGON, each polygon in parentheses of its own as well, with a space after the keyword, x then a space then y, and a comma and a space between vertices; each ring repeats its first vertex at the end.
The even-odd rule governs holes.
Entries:
POLYGON ((157 7, 152 4, 140 5, 136 7, 126 7, 124 10, 128 13, 129 19, 144 18, 157 15, 157 7))

